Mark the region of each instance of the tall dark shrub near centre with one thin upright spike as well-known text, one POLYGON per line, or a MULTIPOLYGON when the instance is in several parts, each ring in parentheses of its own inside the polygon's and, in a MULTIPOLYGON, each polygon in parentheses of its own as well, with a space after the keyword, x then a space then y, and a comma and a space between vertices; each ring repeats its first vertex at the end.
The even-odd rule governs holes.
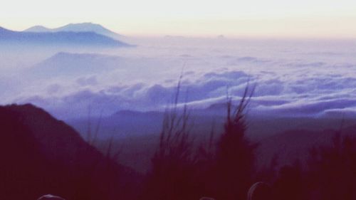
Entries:
POLYGON ((199 199, 197 194, 193 140, 189 137, 187 105, 179 110, 179 90, 172 107, 164 112, 159 147, 152 158, 152 170, 147 174, 142 199, 199 199))

